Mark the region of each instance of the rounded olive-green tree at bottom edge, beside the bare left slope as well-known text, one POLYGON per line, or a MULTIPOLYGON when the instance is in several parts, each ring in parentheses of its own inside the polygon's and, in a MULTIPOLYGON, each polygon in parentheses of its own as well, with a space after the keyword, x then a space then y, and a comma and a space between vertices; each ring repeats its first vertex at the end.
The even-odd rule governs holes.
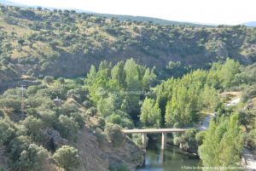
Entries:
POLYGON ((66 171, 74 171, 79 168, 81 162, 78 150, 69 145, 61 146, 60 149, 55 151, 53 158, 56 164, 66 171))

